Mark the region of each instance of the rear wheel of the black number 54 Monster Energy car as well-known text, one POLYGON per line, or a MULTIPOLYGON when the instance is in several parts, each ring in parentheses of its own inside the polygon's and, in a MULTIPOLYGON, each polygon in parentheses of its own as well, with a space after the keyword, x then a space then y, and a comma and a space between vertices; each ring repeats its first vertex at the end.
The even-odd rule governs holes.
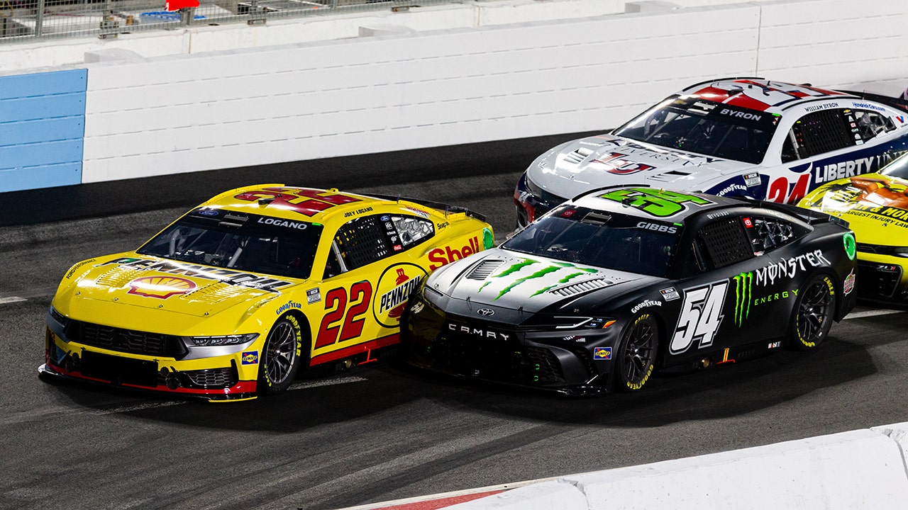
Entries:
POLYGON ((798 290, 789 338, 798 350, 819 347, 833 326, 835 286, 826 274, 817 274, 798 290))

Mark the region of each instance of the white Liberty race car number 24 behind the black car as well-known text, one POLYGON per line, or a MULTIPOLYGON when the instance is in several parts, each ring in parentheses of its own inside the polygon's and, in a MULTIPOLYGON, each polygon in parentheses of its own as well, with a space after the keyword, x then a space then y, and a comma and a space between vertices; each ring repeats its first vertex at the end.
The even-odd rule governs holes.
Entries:
POLYGON ((908 103, 766 81, 697 83, 609 134, 539 156, 514 191, 518 226, 584 191, 648 184, 795 203, 908 150, 908 103))

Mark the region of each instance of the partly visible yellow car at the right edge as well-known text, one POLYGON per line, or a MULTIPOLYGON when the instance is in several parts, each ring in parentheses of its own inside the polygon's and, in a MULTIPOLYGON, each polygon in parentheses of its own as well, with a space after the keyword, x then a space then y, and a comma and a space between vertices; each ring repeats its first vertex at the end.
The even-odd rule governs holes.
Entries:
MULTIPOLYGON (((908 246, 908 181, 881 173, 826 182, 798 206, 823 211, 848 221, 858 243, 857 259, 864 262, 900 266, 902 280, 897 289, 908 286, 905 264, 896 255, 862 250, 864 244, 883 247, 908 246)), ((858 284, 860 285, 860 283, 858 284)))

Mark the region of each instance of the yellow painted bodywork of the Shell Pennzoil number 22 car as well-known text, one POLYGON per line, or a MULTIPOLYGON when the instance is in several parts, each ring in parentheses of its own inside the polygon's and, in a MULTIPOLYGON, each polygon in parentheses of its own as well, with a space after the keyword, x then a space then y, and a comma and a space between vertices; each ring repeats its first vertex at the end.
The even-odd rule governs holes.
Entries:
MULTIPOLYGON (((241 381, 255 381, 259 377, 262 346, 271 327, 284 314, 294 314, 300 319, 303 336, 308 334, 311 340, 310 352, 301 353, 303 367, 310 359, 313 365, 345 359, 368 360, 370 349, 398 341, 400 310, 410 290, 415 288, 414 279, 424 278, 430 270, 471 252, 490 248, 492 240, 489 224, 464 212, 446 213, 416 202, 380 200, 336 190, 290 188, 282 184, 227 191, 200 208, 321 224, 323 230, 311 277, 296 280, 245 273, 129 251, 75 264, 61 281, 52 307, 67 319, 105 327, 183 338, 250 333, 258 333, 258 338, 240 346, 193 347, 190 356, 183 359, 127 354, 74 341, 66 343, 50 329, 48 340, 65 353, 87 350, 153 360, 159 369, 170 371, 233 365, 241 381), (315 211, 318 208, 323 210, 315 211), (359 268, 336 276, 325 274, 331 240, 344 224, 360 216, 386 214, 429 220, 434 225, 434 236, 409 250, 401 249, 359 268), (212 356, 193 358, 207 352, 204 349, 210 349, 212 356)), ((48 323, 52 324, 50 319, 48 323)), ((47 347, 54 350, 50 344, 47 347)))

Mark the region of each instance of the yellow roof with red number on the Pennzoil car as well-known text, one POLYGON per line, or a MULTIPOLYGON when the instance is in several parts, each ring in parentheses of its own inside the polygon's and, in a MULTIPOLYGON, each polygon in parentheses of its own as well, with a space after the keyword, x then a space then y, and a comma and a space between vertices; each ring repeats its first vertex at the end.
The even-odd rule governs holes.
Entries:
MULTIPOLYGON (((224 191, 200 208, 228 209, 285 220, 325 222, 350 211, 390 205, 392 202, 336 189, 302 188, 284 184, 256 184, 224 191), (267 206, 267 207, 266 207, 267 206)), ((418 204, 414 204, 418 205, 418 204)), ((420 208, 429 210, 429 208, 420 208)), ((428 213, 428 211, 423 211, 428 213)))

